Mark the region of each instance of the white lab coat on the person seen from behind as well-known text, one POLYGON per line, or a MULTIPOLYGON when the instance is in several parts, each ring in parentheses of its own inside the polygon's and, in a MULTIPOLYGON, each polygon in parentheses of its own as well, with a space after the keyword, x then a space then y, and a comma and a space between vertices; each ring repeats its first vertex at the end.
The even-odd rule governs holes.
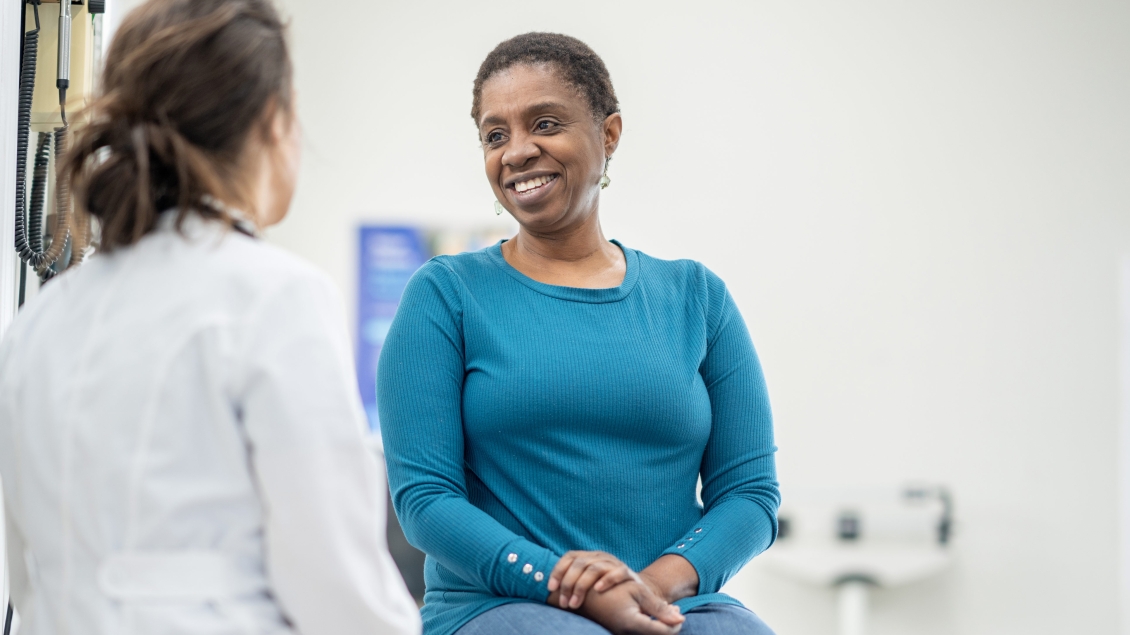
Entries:
POLYGON ((21 630, 418 633, 331 284, 169 220, 49 282, 0 346, 21 630))

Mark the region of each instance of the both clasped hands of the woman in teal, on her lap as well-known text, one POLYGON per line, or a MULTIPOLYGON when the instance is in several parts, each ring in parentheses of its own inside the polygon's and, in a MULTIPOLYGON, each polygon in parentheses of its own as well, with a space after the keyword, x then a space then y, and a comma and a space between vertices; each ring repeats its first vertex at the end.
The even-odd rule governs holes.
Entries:
POLYGON ((671 602, 697 592, 698 573, 681 556, 662 556, 636 573, 605 551, 570 551, 549 574, 548 588, 549 604, 615 635, 673 635, 686 618, 671 602))

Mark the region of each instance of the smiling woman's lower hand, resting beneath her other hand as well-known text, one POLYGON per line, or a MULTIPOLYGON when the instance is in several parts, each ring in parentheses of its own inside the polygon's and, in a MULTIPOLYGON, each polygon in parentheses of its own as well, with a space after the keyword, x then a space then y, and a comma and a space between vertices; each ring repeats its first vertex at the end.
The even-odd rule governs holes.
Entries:
POLYGON ((589 593, 576 612, 611 630, 612 635, 675 635, 686 619, 679 607, 669 604, 651 588, 636 581, 589 593))

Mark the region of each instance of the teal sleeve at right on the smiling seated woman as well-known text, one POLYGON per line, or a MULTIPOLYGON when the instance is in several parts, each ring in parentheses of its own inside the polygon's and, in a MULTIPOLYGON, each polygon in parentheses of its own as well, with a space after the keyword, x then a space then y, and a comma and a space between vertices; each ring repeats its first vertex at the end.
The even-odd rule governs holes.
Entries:
POLYGON ((716 592, 776 538, 776 481, 768 392, 746 323, 723 282, 702 270, 707 324, 699 373, 712 425, 702 462, 703 519, 664 554, 698 572, 698 593, 716 592))

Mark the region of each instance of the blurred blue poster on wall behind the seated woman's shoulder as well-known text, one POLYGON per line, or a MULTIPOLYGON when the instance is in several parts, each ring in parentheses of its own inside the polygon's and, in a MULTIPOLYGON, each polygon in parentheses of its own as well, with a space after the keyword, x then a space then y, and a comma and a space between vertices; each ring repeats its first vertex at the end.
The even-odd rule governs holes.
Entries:
POLYGON ((377 432, 376 360, 405 286, 427 261, 428 249, 415 227, 362 227, 358 254, 357 384, 368 426, 377 432))

